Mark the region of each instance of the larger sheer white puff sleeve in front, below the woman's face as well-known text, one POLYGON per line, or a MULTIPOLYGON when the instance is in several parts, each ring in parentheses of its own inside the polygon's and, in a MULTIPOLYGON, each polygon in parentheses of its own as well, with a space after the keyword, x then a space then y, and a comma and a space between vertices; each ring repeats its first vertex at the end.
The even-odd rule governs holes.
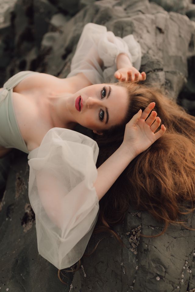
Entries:
POLYGON ((97 222, 99 200, 93 183, 98 151, 91 138, 52 128, 28 155, 38 252, 58 269, 83 256, 97 222))

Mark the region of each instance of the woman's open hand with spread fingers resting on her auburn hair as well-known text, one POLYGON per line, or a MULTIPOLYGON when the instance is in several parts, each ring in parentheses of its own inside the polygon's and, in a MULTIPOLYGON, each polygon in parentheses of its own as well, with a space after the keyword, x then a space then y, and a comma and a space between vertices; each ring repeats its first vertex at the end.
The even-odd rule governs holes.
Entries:
POLYGON ((154 133, 161 124, 161 119, 157 117, 157 113, 151 110, 155 103, 150 103, 143 113, 141 109, 126 124, 125 134, 122 144, 127 147, 129 153, 136 157, 141 152, 151 146, 158 138, 165 133, 165 126, 161 125, 161 129, 154 133), (149 113, 151 115, 148 117, 149 113), (148 118, 147 118, 148 117, 148 118), (147 119, 147 120, 146 120, 147 119))

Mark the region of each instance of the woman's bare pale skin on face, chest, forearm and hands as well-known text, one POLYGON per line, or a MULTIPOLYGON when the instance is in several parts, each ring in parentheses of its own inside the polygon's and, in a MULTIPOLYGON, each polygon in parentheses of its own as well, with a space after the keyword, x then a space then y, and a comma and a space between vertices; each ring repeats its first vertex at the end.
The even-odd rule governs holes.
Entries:
MULTIPOLYGON (((100 64, 101 62, 99 59, 100 64)), ((145 72, 139 73, 125 54, 119 54, 117 57, 117 68, 115 77, 119 81, 137 82, 146 78, 145 72)), ((112 85, 109 99, 104 94, 102 98, 100 90, 104 86, 106 85, 91 85, 82 73, 70 78, 56 78, 41 73, 41 75, 31 75, 20 82, 13 90, 13 103, 20 132, 28 150, 31 151, 39 147, 44 135, 53 127, 73 129, 77 123, 80 123, 95 133, 101 134, 101 130, 108 128, 115 122, 120 122, 123 119, 122 113, 124 113, 122 109, 126 108, 127 94, 124 88, 119 87, 119 92, 117 92, 115 88, 117 86, 112 85), (57 96, 62 95, 62 93, 63 99, 58 98, 57 96), (78 95, 83 96, 83 113, 82 110, 79 112, 75 109, 75 99, 78 95), (118 96, 120 96, 120 103, 118 96), (21 104, 29 110, 23 111, 21 104), (109 124, 99 120, 100 110, 105 112, 105 108, 110 111, 109 124), (116 119, 118 120, 116 121, 116 119)), ((156 132, 161 120, 155 111, 151 113, 154 105, 154 103, 150 103, 143 112, 140 110, 133 116, 126 124, 121 146, 98 168, 98 178, 94 182, 94 187, 99 200, 126 166, 165 133, 164 125, 161 125, 161 129, 156 132), (146 120, 149 113, 151 115, 146 120)), ((3 156, 8 151, 10 148, 0 148, 0 155, 3 156)))

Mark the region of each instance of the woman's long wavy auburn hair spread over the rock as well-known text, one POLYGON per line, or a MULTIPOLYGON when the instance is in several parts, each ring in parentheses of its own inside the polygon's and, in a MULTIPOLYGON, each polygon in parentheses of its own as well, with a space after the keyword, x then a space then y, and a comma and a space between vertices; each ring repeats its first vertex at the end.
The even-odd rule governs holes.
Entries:
MULTIPOLYGON (((179 216, 195 210, 195 117, 159 89, 128 82, 114 85, 126 88, 129 106, 120 125, 103 130, 102 136, 94 134, 99 146, 97 168, 121 145, 126 123, 149 103, 155 102, 153 110, 161 118, 166 132, 129 163, 99 201, 100 213, 93 233, 109 232, 122 243, 112 227, 122 223, 130 206, 147 210, 157 221, 164 223, 165 227, 158 235, 140 236, 160 236, 169 224, 182 224, 194 230, 187 227, 184 221, 179 221, 179 216)), ((80 268, 80 261, 77 269, 80 268)))

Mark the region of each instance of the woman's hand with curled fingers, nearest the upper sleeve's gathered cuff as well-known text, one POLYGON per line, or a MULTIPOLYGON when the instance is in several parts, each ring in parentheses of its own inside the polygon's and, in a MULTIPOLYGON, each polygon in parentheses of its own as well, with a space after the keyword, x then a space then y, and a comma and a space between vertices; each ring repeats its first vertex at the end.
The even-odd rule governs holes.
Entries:
POLYGON ((135 67, 123 67, 115 71, 115 78, 119 81, 139 82, 146 80, 146 73, 140 73, 135 67))

